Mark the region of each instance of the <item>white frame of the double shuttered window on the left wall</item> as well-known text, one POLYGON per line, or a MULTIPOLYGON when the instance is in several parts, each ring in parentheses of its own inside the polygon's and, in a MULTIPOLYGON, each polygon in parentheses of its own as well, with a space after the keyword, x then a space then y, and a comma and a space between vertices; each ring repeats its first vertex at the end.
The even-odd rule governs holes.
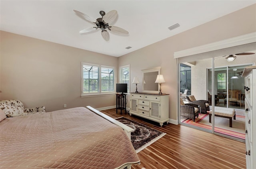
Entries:
POLYGON ((106 65, 96 65, 96 64, 91 64, 91 63, 81 63, 81 96, 90 96, 90 95, 102 95, 102 94, 115 94, 115 67, 112 66, 106 66, 106 65), (98 67, 98 92, 86 92, 84 93, 84 66, 94 66, 98 67), (102 92, 101 88, 101 69, 102 68, 109 68, 113 69, 113 91, 110 92, 102 92))

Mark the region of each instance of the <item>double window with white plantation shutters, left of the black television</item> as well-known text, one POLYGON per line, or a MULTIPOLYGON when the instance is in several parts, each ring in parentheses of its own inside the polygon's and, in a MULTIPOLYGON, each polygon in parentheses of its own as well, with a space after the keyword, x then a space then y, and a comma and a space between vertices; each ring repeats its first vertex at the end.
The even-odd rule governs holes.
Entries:
POLYGON ((82 95, 114 93, 114 67, 82 63, 82 95))

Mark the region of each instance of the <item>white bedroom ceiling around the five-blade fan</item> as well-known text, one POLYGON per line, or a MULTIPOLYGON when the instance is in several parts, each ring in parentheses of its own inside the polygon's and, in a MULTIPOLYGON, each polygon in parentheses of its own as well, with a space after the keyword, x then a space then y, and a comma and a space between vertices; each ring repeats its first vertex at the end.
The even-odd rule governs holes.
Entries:
POLYGON ((120 57, 246 6, 255 0, 0 0, 0 29, 88 51, 120 57), (94 19, 118 11, 110 26, 128 35, 110 32, 105 41, 100 30, 80 34, 96 26, 78 17, 78 10, 94 19), (172 31, 168 27, 180 24, 172 31), (131 49, 125 47, 131 46, 131 49))

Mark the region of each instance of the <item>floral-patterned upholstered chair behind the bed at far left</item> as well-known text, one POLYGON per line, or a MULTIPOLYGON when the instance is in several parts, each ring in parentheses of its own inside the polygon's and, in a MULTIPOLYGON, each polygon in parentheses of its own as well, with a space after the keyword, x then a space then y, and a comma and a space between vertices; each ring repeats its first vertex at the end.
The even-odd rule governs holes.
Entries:
POLYGON ((20 100, 2 100, 0 108, 7 117, 26 116, 31 114, 40 114, 45 112, 45 106, 35 108, 24 108, 20 100))

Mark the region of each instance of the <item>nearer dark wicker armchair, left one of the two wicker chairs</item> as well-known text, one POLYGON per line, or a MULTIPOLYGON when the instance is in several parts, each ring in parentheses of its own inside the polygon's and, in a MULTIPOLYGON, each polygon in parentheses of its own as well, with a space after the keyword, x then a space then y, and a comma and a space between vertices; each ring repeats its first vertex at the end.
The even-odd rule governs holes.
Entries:
POLYGON ((180 98, 180 116, 188 117, 195 121, 196 117, 198 117, 198 105, 191 103, 184 104, 182 98, 180 98))

